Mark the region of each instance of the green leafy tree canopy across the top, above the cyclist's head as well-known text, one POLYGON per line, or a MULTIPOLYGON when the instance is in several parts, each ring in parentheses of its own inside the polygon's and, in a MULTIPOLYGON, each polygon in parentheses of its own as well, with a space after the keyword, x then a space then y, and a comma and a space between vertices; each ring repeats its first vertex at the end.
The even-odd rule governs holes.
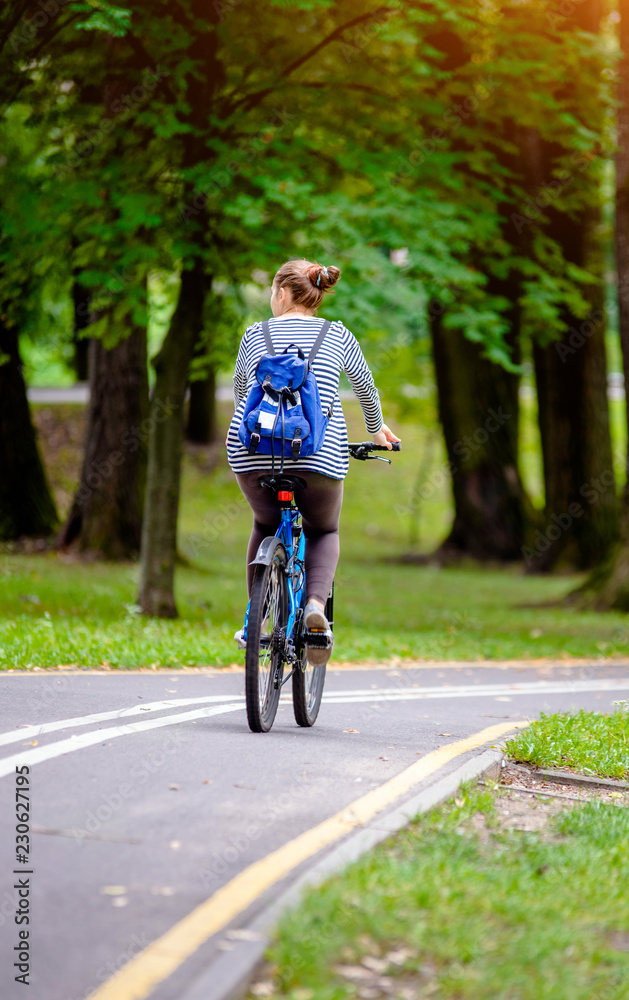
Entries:
POLYGON ((43 269, 59 298, 76 278, 94 289, 95 317, 115 314, 117 333, 101 320, 88 334, 123 336, 148 275, 198 254, 230 287, 290 256, 334 261, 334 308, 381 342, 410 334, 423 357, 436 298, 447 322, 511 365, 509 303, 488 293, 492 276, 521 274, 530 335, 557 335, 563 304, 587 312, 587 274, 544 237, 543 209, 527 216, 513 126, 555 143, 569 180, 553 206, 595 196, 610 57, 569 19, 550 24, 516 2, 498 17, 473 0, 358 0, 351 13, 329 0, 94 0, 21 32, 17 56, 5 48, 16 97, 2 127, 40 255, 33 267, 29 240, 11 239, 23 218, 0 188, 0 272, 5 298, 33 315, 43 269), (391 260, 401 248, 403 266, 391 260))

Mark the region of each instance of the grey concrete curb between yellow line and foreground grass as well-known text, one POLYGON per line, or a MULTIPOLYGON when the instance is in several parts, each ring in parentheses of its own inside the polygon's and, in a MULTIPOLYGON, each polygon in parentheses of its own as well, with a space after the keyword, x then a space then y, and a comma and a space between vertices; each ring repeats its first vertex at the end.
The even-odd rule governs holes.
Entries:
POLYGON ((500 751, 485 750, 466 760, 428 788, 415 793, 402 805, 374 816, 366 826, 351 833, 324 857, 316 860, 249 924, 225 932, 220 944, 229 950, 212 962, 180 1000, 239 1000, 264 959, 270 935, 278 919, 285 910, 295 906, 305 889, 342 871, 391 834, 407 826, 415 816, 428 812, 451 798, 463 782, 498 778, 501 762, 500 751))

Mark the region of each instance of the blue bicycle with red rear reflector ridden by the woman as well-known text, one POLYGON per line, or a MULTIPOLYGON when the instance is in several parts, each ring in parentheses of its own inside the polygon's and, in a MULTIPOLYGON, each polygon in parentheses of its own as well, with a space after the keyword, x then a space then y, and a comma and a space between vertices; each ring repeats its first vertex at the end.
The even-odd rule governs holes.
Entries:
MULTIPOLYGON (((393 444, 392 451, 399 451, 393 444)), ((390 459, 372 455, 388 451, 383 445, 362 441, 348 445, 352 458, 359 461, 390 459)), ((256 567, 251 596, 245 614, 241 644, 245 647, 245 698, 247 721, 254 733, 267 733, 277 713, 282 687, 292 678, 293 712, 298 726, 313 726, 323 696, 325 665, 308 662, 306 646, 329 649, 330 633, 306 631, 303 614, 306 601, 305 537, 301 514, 295 504, 296 490, 305 489, 300 476, 263 475, 259 482, 277 492, 281 520, 274 536, 265 538, 253 560, 256 567), (284 677, 288 664, 290 673, 284 677)), ((334 584, 328 596, 325 616, 334 625, 334 584)))

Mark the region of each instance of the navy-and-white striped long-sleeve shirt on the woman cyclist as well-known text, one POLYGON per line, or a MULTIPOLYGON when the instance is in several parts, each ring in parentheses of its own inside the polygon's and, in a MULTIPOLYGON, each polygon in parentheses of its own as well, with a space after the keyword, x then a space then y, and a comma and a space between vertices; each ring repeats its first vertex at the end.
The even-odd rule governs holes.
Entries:
MULTIPOLYGON (((277 354, 295 344, 308 356, 323 320, 316 316, 291 316, 290 319, 271 319, 269 329, 273 347, 277 354)), ((233 472, 266 472, 271 468, 270 455, 249 455, 238 439, 238 429, 242 422, 245 401, 249 390, 255 384, 255 370, 258 361, 267 353, 260 323, 245 330, 240 343, 236 370, 234 373, 234 403, 236 412, 227 435, 227 457, 233 472)), ((374 384, 363 352, 353 333, 340 320, 332 323, 312 364, 319 387, 321 406, 324 413, 332 403, 334 409, 325 440, 321 449, 308 458, 296 462, 286 459, 286 472, 299 469, 320 472, 332 479, 344 479, 347 475, 349 458, 347 453, 347 428, 339 399, 339 376, 345 372, 356 393, 365 417, 369 434, 376 434, 383 424, 382 409, 378 390, 374 384)))

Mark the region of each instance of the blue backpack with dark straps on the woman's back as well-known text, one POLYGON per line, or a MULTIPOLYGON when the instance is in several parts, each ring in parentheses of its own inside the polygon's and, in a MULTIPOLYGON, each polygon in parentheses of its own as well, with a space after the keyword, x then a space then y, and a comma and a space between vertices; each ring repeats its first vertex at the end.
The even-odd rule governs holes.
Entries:
POLYGON ((256 382, 247 396, 245 411, 238 430, 241 443, 250 455, 281 455, 284 458, 306 458, 319 451, 332 416, 321 407, 319 388, 311 365, 331 321, 325 320, 312 350, 304 357, 301 348, 290 344, 282 354, 276 354, 268 321, 262 323, 267 346, 256 366, 256 382), (291 354, 291 347, 297 354, 291 354))

